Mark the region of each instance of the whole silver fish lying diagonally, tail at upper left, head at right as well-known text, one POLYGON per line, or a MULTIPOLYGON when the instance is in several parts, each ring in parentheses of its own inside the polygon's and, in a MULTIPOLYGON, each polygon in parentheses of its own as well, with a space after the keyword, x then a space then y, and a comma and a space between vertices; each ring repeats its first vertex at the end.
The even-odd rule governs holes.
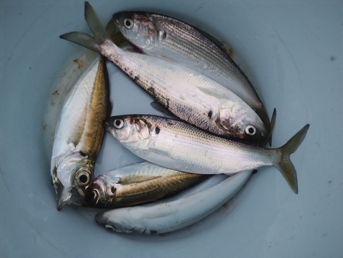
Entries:
POLYGON ((259 142, 268 136, 257 113, 224 86, 177 62, 120 49, 88 2, 85 17, 95 38, 81 32, 60 38, 106 56, 176 117, 222 137, 259 142))

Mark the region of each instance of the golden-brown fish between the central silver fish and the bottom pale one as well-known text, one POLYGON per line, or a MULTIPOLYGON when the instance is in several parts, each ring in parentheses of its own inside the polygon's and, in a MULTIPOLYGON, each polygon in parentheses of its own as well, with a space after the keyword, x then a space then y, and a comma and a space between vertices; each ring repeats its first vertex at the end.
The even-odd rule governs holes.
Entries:
POLYGON ((115 209, 154 202, 173 196, 206 178, 149 162, 113 169, 94 179, 86 195, 86 207, 115 209))

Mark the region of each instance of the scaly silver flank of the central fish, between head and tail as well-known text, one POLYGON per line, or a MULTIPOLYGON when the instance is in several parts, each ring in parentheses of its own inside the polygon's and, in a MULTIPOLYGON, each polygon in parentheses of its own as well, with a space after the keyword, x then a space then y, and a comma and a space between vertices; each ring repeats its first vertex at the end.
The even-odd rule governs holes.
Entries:
MULTIPOLYGON (((145 117, 154 126, 161 128, 159 134, 151 134, 152 142, 147 148, 154 155, 155 152, 163 152, 169 162, 166 167, 173 166, 185 172, 200 174, 235 174, 238 171, 257 167, 261 164, 271 165, 271 161, 265 159, 263 149, 251 148, 249 145, 241 145, 234 141, 225 141, 220 137, 213 137, 198 128, 193 128, 182 121, 167 123, 163 118, 145 117), (242 155, 246 154, 247 155, 242 155), (260 154, 260 152, 262 152, 260 154), (228 166, 228 156, 230 162, 228 166), (242 159, 244 156, 244 159, 242 159), (171 160, 169 159, 171 158, 171 160), (252 162, 256 160, 255 162, 252 162), (213 164, 213 161, 216 163, 213 164), (245 163, 249 165, 245 165, 245 163)), ((273 152, 268 150, 268 152, 273 152)), ((275 151, 274 151, 275 152, 275 151)), ((156 162, 156 161, 155 161, 156 162)), ((156 163, 160 163, 159 161, 156 163)))

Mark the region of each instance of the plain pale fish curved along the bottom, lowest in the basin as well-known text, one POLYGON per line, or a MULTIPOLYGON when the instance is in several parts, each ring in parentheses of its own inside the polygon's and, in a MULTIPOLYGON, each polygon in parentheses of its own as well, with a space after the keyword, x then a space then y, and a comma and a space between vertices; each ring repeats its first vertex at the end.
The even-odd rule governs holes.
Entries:
POLYGON ((209 189, 177 200, 102 211, 95 215, 95 221, 118 233, 154 235, 176 231, 220 208, 241 189, 251 172, 239 172, 209 189))

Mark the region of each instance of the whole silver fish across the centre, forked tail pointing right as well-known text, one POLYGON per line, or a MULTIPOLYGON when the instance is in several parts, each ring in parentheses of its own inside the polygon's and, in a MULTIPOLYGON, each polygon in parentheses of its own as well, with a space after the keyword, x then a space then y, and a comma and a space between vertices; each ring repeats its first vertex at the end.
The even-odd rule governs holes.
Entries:
POLYGON ((298 193, 296 170, 289 155, 302 143, 309 124, 276 149, 231 141, 184 121, 154 115, 109 117, 104 127, 132 153, 157 165, 182 172, 226 175, 272 165, 298 193))

